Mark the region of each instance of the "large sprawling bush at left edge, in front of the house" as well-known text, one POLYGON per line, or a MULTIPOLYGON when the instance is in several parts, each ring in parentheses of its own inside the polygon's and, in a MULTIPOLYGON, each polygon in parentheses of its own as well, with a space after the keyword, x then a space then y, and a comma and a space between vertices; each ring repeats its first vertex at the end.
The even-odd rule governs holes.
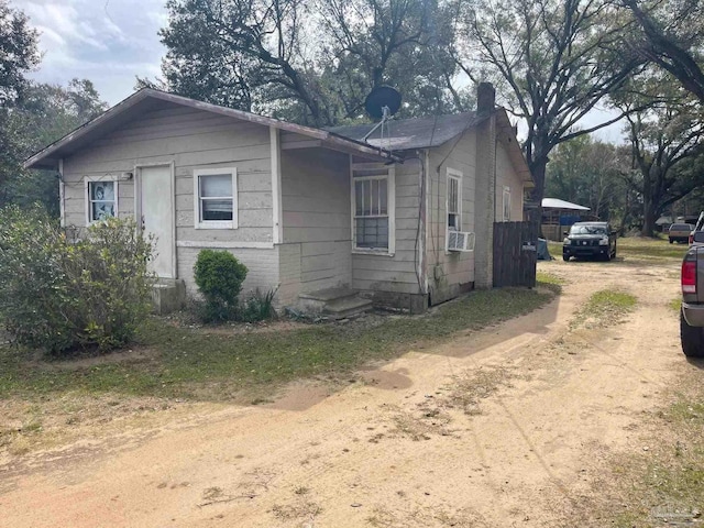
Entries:
POLYGON ((20 344, 62 354, 129 343, 151 310, 152 242, 110 218, 77 242, 45 212, 0 211, 0 323, 20 344))

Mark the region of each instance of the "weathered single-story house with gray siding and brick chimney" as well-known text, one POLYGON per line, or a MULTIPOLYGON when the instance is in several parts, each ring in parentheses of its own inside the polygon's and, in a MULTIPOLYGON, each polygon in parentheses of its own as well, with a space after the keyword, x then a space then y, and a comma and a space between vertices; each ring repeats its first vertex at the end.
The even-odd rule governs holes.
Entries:
POLYGON ((196 292, 202 249, 232 252, 276 304, 350 292, 413 312, 492 287, 494 222, 532 185, 483 85, 476 112, 320 130, 143 89, 25 162, 56 170, 62 223, 141 219, 153 270, 196 292), (482 91, 483 90, 483 91, 482 91))

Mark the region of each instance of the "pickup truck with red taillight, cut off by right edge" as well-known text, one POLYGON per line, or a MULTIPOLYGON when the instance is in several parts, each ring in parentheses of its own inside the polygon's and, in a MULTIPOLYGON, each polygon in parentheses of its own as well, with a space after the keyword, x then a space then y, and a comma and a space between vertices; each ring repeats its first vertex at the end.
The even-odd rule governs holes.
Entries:
POLYGON ((682 261, 680 341, 684 355, 704 358, 704 231, 694 233, 694 242, 682 261))

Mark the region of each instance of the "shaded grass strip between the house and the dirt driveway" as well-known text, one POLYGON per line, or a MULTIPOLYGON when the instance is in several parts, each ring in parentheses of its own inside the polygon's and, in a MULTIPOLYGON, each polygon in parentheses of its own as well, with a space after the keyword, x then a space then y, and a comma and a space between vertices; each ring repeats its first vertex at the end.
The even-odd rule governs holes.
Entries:
POLYGON ((279 333, 233 336, 152 319, 140 336, 141 348, 148 353, 125 361, 118 361, 117 353, 116 361, 99 364, 36 361, 31 351, 0 345, 0 398, 33 399, 78 391, 204 400, 232 400, 246 393, 251 400, 271 394, 272 384, 344 375, 372 360, 392 359, 447 341, 462 330, 528 314, 552 298, 543 288, 473 292, 425 316, 279 333))

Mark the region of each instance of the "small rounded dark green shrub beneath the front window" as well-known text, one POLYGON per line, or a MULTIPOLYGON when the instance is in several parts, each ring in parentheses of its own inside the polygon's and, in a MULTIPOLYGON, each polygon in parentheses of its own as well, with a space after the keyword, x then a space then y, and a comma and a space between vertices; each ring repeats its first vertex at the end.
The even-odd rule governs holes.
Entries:
POLYGON ((196 285, 205 299, 205 322, 229 321, 238 316, 238 297, 248 268, 228 251, 202 250, 194 266, 196 285))

